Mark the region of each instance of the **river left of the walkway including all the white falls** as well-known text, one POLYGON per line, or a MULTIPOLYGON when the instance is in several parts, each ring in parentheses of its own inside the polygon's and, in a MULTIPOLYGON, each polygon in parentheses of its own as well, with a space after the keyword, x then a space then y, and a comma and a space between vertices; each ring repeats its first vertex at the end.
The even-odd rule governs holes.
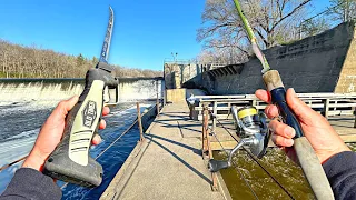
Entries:
MULTIPOLYGON (((156 97, 157 87, 151 80, 121 81, 119 84, 121 89, 120 102, 128 103, 118 104, 111 109, 109 116, 105 117, 108 126, 107 129, 100 130, 102 142, 91 148, 92 157, 98 156, 136 120, 136 106, 132 102, 129 103, 129 101, 156 97)), ((164 84, 160 83, 159 88, 162 87, 164 84)), ((41 124, 58 102, 75 94, 79 96, 82 90, 83 81, 78 80, 30 80, 30 82, 29 80, 13 80, 12 82, 0 82, 0 127, 2 127, 0 130, 0 166, 27 156, 34 143, 41 124)), ((140 104, 141 112, 149 106, 148 103, 140 104)), ((116 173, 136 146, 138 134, 135 133, 138 131, 132 131, 134 134, 122 137, 122 141, 118 141, 118 146, 112 148, 115 149, 112 153, 108 151, 100 159, 100 162, 106 164, 106 173, 109 174, 109 178, 116 173), (116 164, 111 164, 112 159, 117 161, 116 164)), ((0 193, 6 189, 14 171, 21 164, 22 162, 19 162, 0 172, 0 193)), ((109 178, 106 178, 106 184, 109 178)), ((90 192, 98 197, 103 187, 97 191, 88 191, 80 187, 70 186, 66 188, 63 194, 68 199, 76 199, 76 197, 82 197, 90 192)))

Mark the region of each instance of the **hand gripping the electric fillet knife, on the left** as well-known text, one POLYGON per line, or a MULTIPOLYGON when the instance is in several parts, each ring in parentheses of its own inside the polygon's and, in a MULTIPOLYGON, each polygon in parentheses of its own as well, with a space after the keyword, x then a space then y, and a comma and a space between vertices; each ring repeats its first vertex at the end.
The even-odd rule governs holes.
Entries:
MULTIPOLYGON (((36 143, 24 160, 22 167, 32 168, 38 171, 42 171, 42 167, 47 158, 55 151, 56 147, 60 142, 65 126, 66 126, 66 116, 78 102, 78 96, 72 97, 69 100, 65 100, 58 103, 52 113, 48 117, 43 123, 40 133, 37 137, 36 143)), ((102 116, 107 116, 110 112, 110 109, 103 107, 102 116)), ((106 122, 101 120, 99 123, 99 129, 105 129, 106 122)), ((96 134, 91 143, 99 144, 101 142, 100 136, 96 134)))

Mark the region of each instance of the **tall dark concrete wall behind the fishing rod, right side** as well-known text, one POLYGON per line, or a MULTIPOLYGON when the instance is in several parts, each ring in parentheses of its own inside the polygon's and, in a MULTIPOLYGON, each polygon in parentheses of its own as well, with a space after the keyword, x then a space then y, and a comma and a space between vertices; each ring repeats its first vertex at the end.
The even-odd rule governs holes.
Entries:
MULTIPOLYGON (((344 23, 322 34, 265 51, 287 88, 297 92, 350 92, 356 80, 355 26, 344 23), (340 78, 339 78, 340 77, 340 78)), ((211 94, 254 93, 265 88, 257 58, 204 72, 185 83, 211 94)))

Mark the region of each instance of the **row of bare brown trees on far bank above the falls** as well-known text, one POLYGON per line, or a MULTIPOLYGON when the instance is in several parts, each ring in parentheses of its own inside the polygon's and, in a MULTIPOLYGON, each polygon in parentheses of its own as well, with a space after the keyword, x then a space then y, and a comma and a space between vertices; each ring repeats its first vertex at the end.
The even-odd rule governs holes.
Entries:
MULTIPOLYGON (((0 39, 0 78, 83 78, 98 59, 87 59, 41 49, 23 47, 0 39)), ((160 71, 115 66, 119 77, 159 77, 160 71)))

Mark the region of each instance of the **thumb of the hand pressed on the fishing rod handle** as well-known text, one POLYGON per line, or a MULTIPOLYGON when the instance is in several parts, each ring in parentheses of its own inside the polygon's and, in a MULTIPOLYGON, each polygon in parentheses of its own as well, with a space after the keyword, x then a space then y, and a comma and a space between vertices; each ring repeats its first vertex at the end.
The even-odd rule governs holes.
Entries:
POLYGON ((291 111, 299 119, 309 118, 314 113, 314 110, 303 102, 296 94, 293 88, 287 90, 287 103, 291 111))

